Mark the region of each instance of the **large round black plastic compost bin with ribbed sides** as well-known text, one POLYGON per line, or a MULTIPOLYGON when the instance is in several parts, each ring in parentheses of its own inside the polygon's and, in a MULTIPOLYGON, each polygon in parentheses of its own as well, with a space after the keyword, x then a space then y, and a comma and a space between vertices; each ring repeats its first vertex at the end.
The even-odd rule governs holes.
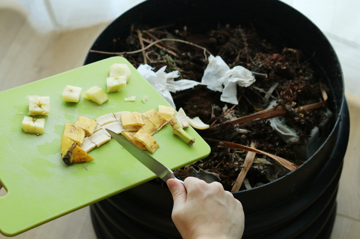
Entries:
MULTIPOLYGON (((122 52, 131 25, 186 25, 192 31, 217 24, 254 27, 260 36, 302 50, 328 81, 331 129, 319 149, 298 169, 271 183, 233 193, 246 215, 243 238, 327 238, 336 212, 336 194, 345 155, 349 117, 341 66, 323 33, 305 16, 277 0, 148 0, 114 20, 91 50, 122 52)), ((111 55, 89 52, 85 64, 111 55)), ((172 197, 153 181, 91 206, 98 238, 179 238, 171 221, 172 197)))

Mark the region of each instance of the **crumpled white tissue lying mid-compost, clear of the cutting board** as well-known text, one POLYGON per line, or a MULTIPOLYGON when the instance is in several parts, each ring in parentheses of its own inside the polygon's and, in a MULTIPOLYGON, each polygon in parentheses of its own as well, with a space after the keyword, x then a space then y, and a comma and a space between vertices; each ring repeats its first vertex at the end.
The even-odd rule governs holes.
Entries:
POLYGON ((248 87, 255 82, 255 76, 242 66, 233 69, 220 56, 209 56, 201 83, 207 88, 222 92, 220 100, 231 104, 238 104, 237 85, 248 87), (224 86, 224 88, 223 88, 224 86))

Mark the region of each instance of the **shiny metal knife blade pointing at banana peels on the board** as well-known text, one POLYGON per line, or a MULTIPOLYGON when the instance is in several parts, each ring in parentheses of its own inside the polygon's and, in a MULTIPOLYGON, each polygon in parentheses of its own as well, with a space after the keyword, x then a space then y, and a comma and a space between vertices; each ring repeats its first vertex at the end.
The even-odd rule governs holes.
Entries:
POLYGON ((165 165, 154 159, 152 156, 147 154, 145 151, 139 149, 137 146, 132 144, 125 137, 118 135, 117 133, 106 129, 106 131, 116 140, 121 146, 124 147, 134 158, 144 164, 145 167, 150 169, 154 174, 156 174, 163 181, 167 181, 170 178, 174 178, 184 185, 184 182, 180 179, 177 179, 171 169, 167 168, 165 165))

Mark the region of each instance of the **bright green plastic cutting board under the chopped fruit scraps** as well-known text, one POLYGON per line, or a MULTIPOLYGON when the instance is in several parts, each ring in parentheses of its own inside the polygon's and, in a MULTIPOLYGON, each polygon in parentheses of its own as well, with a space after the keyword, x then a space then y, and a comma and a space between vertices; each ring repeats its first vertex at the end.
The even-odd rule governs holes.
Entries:
MULTIPOLYGON (((156 178, 113 139, 90 151, 94 161, 66 165, 60 155, 60 140, 66 122, 78 116, 96 118, 118 111, 158 109, 169 106, 166 100, 123 57, 111 57, 58 75, 0 92, 0 182, 7 194, 0 197, 0 231, 14 236, 116 193, 156 178), (126 63, 130 81, 118 93, 109 93, 108 102, 99 106, 82 95, 78 103, 66 103, 66 85, 85 90, 94 85, 106 92, 108 69, 113 63, 126 63), (21 122, 28 116, 28 95, 50 96, 50 114, 42 135, 24 133, 21 122), (125 97, 136 95, 135 102, 125 97), (146 103, 141 99, 148 95, 146 103)), ((210 153, 206 142, 189 127, 193 146, 174 135, 169 125, 154 138, 160 145, 154 158, 174 170, 205 158, 210 153)))

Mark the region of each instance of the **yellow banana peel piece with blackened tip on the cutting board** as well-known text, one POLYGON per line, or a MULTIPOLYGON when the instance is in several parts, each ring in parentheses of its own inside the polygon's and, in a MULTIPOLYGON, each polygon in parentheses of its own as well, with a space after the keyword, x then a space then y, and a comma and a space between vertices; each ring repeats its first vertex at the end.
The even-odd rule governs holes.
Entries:
POLYGON ((61 158, 67 165, 87 163, 94 158, 81 149, 74 141, 64 136, 61 139, 61 158))

